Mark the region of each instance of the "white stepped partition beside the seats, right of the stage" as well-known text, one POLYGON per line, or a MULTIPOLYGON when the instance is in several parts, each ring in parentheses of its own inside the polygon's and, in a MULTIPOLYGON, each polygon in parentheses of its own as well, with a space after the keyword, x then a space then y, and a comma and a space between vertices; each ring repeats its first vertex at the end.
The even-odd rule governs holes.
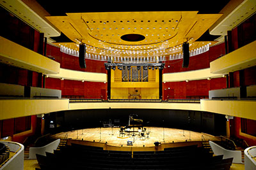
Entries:
POLYGON ((217 145, 216 143, 209 141, 214 155, 223 155, 223 159, 233 158, 232 163, 243 164, 242 152, 239 150, 226 150, 225 148, 217 145))

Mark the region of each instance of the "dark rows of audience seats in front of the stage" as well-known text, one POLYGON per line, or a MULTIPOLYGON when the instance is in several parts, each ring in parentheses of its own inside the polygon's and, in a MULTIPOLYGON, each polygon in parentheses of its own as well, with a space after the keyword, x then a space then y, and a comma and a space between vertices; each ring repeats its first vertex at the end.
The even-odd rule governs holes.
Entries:
POLYGON ((156 152, 109 151, 72 144, 54 153, 36 155, 40 169, 230 169, 232 159, 212 156, 197 145, 156 152))

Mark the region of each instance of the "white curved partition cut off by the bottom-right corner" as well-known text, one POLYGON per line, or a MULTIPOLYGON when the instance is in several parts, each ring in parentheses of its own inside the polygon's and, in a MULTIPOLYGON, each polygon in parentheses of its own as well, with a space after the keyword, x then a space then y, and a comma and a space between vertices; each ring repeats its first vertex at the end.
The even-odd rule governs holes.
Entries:
POLYGON ((244 150, 244 170, 256 169, 256 146, 244 150))

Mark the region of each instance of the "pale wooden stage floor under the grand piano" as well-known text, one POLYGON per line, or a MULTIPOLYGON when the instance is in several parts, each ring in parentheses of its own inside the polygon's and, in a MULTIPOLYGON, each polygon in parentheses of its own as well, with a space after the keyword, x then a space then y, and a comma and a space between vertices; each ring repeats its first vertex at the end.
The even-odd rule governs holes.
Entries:
POLYGON ((117 127, 97 127, 90 129, 80 129, 70 132, 61 132, 54 135, 54 138, 64 138, 65 134, 68 134, 68 138, 77 141, 90 141, 95 143, 108 143, 109 146, 127 146, 127 141, 132 141, 132 147, 152 147, 154 142, 158 141, 163 144, 173 143, 188 143, 191 141, 202 141, 202 135, 205 140, 218 141, 219 139, 205 133, 186 131, 182 129, 170 129, 163 127, 146 127, 147 131, 150 131, 147 138, 141 138, 138 132, 135 132, 136 136, 132 136, 132 132, 128 136, 125 133, 124 138, 120 138, 120 128, 117 127))

